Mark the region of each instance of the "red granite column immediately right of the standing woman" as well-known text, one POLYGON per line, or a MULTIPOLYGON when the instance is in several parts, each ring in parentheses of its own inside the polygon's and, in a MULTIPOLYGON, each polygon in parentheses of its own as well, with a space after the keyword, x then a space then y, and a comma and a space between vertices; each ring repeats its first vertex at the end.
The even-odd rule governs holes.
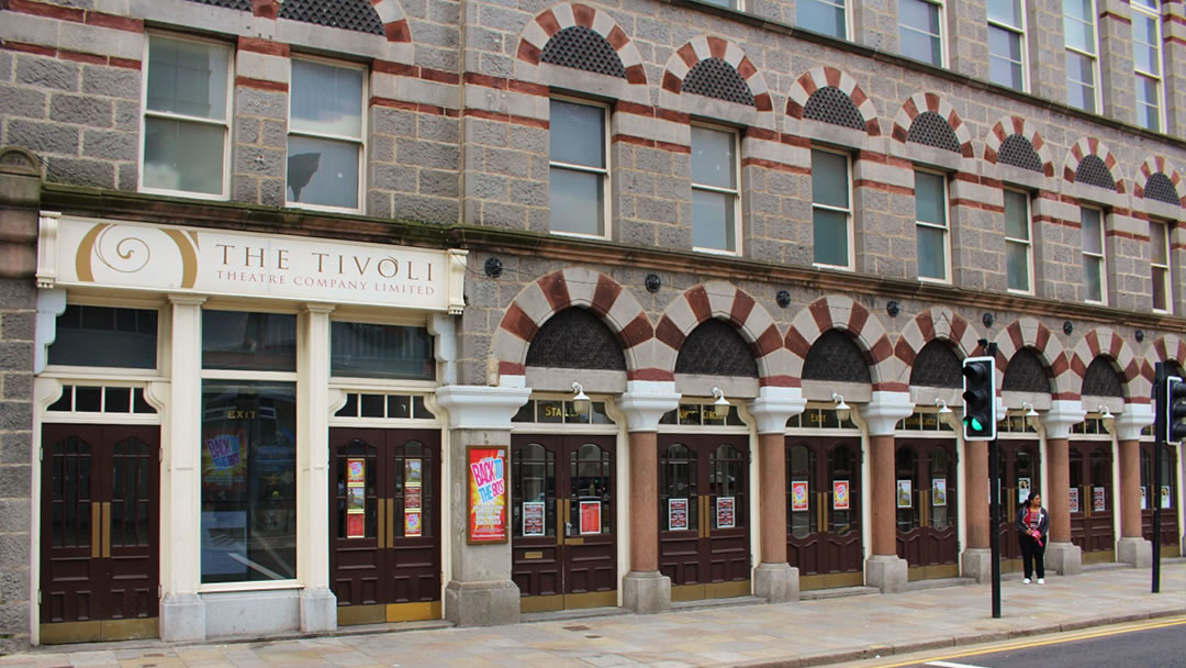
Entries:
MULTIPOLYGON (((1046 568, 1060 575, 1083 572, 1083 553, 1071 542, 1071 425, 1083 421, 1083 402, 1057 400, 1042 416, 1046 432, 1046 511, 1050 513, 1050 536, 1046 545, 1046 568)), ((1082 501, 1082 500, 1080 500, 1082 501)))

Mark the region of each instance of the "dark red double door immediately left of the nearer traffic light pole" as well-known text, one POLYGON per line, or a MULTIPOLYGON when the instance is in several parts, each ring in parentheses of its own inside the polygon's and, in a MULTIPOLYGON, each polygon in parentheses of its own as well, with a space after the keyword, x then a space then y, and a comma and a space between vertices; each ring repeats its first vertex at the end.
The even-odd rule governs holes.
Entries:
POLYGON ((955 450, 950 440, 898 439, 898 556, 911 580, 959 574, 955 450))

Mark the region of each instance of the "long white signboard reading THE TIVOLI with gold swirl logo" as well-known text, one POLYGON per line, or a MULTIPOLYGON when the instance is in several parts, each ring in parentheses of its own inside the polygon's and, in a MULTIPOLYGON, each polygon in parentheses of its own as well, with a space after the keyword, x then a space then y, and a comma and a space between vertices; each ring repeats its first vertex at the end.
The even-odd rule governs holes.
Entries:
POLYGON ((42 216, 40 244, 42 287, 272 297, 451 313, 464 306, 465 250, 56 215, 42 216))

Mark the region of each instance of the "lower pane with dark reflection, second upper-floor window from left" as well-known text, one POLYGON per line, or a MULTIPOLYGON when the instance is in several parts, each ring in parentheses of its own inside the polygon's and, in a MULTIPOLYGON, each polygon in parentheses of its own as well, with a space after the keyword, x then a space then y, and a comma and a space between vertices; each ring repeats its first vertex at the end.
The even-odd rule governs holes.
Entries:
POLYGON ((358 145, 288 135, 288 201, 358 208, 358 145))

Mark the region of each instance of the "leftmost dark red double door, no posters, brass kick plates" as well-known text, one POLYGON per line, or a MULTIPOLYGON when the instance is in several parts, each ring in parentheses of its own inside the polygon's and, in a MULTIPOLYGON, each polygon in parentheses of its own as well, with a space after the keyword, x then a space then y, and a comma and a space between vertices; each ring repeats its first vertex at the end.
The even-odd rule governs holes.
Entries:
POLYGON ((40 641, 158 635, 160 428, 42 428, 40 641))

